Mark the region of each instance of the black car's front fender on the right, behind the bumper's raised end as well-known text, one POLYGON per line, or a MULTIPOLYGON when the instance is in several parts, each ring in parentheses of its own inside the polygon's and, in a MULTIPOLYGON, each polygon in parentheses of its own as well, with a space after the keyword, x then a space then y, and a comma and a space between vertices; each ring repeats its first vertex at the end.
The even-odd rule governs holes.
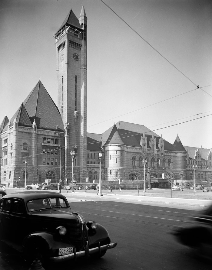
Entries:
POLYGON ((98 224, 98 227, 95 230, 87 227, 87 235, 89 247, 95 246, 95 244, 98 244, 99 242, 101 245, 110 244, 111 242, 108 231, 100 224, 98 224))

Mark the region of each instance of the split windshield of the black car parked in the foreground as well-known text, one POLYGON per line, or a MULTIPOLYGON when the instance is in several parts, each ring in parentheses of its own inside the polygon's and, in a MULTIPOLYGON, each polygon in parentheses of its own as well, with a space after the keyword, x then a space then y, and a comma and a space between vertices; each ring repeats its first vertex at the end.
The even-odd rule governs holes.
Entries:
POLYGON ((43 198, 28 201, 27 208, 32 212, 47 208, 68 208, 68 205, 63 198, 43 198))

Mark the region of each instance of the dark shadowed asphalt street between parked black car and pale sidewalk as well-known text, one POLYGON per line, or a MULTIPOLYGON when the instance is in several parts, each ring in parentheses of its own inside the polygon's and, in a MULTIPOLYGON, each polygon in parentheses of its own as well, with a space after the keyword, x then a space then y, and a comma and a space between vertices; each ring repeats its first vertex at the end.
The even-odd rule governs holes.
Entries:
MULTIPOLYGON (((118 245, 99 260, 45 266, 46 270, 211 268, 211 262, 198 259, 192 249, 182 246, 168 233, 173 226, 184 226, 187 217, 195 215, 195 211, 105 200, 73 201, 71 208, 86 220, 96 220, 105 226, 111 241, 117 241, 118 245)), ((29 269, 14 251, 1 249, 0 257, 5 262, 1 269, 29 269)))

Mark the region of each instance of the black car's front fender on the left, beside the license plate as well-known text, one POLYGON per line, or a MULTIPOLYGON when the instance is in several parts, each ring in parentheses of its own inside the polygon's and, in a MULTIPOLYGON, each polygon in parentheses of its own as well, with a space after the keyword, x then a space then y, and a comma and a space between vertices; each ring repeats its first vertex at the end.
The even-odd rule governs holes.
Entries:
POLYGON ((64 242, 55 233, 35 232, 26 236, 22 243, 25 255, 34 253, 44 254, 45 257, 58 256, 58 249, 74 246, 69 242, 64 242))

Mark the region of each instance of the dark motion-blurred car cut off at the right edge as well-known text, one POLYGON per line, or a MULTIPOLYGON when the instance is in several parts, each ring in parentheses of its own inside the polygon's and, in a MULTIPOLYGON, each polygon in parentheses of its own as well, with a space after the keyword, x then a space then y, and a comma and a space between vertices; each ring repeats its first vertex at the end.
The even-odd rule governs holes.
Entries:
POLYGON ((171 233, 185 246, 197 250, 197 255, 212 259, 212 205, 198 216, 192 216, 187 226, 178 227, 171 233))

